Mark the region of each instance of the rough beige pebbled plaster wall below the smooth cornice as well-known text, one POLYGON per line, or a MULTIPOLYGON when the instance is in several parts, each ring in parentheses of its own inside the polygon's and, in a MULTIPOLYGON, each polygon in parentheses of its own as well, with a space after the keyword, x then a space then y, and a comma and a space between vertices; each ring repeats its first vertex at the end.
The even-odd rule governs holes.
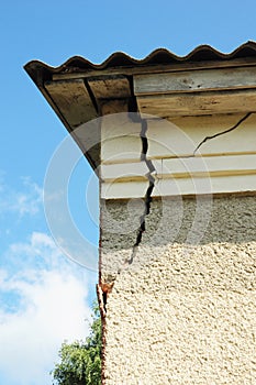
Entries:
POLYGON ((256 198, 153 200, 129 264, 142 210, 102 202, 104 384, 255 385, 256 198))

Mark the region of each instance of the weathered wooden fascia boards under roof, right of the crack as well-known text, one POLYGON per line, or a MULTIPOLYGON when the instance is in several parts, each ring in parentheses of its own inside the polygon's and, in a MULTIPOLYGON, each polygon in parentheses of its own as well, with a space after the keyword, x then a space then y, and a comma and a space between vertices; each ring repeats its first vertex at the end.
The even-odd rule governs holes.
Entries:
POLYGON ((140 112, 162 118, 256 111, 256 66, 134 76, 140 112))

